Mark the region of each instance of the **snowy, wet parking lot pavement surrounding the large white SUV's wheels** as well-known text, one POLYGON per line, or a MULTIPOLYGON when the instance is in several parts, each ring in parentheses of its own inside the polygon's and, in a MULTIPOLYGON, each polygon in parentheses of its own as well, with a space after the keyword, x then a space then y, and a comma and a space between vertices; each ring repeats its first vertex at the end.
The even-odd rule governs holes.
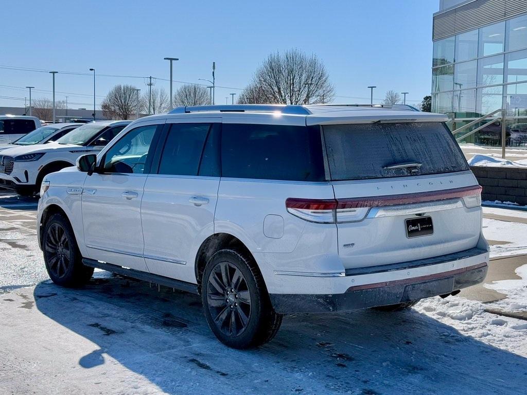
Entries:
POLYGON ((289 315, 274 341, 237 351, 214 338, 196 295, 103 271, 59 288, 36 243, 36 205, 0 193, 0 394, 524 391, 525 321, 462 298, 289 315))

